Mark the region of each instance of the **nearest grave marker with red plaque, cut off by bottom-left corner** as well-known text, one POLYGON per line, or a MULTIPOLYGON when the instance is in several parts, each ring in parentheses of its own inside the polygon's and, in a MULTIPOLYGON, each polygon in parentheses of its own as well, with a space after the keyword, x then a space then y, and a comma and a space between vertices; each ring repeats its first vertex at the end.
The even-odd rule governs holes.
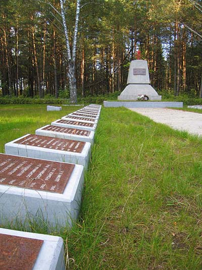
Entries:
POLYGON ((1 269, 65 270, 63 239, 0 228, 1 269))

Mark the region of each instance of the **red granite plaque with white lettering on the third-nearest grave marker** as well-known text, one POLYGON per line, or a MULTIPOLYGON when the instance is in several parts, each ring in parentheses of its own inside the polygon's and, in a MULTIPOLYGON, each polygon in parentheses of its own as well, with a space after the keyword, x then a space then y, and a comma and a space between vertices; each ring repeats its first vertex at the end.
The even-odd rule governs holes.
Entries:
POLYGON ((85 146, 85 142, 81 141, 77 142, 68 139, 52 138, 48 136, 32 134, 16 141, 15 143, 77 153, 81 153, 83 147, 85 146))

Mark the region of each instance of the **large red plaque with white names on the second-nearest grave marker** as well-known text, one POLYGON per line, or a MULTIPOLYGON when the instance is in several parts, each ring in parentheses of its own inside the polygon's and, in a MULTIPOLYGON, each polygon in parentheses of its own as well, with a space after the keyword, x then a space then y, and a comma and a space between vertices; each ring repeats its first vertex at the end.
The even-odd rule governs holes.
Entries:
POLYGON ((75 164, 0 154, 0 184, 63 194, 75 164))

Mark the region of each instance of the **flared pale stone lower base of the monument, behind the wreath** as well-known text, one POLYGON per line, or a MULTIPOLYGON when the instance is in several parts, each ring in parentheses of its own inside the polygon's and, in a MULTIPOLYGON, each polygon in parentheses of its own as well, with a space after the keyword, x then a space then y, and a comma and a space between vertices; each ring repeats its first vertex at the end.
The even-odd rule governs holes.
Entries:
POLYGON ((161 101, 161 96, 148 84, 129 84, 118 96, 118 100, 138 100, 138 95, 144 94, 149 100, 161 101))

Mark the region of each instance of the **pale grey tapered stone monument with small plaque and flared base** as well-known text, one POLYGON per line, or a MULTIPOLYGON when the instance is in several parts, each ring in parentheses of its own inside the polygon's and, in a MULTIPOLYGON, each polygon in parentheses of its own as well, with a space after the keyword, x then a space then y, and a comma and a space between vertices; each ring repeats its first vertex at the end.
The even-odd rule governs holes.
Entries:
POLYGON ((146 95, 149 100, 161 100, 161 96, 150 86, 147 61, 133 60, 129 67, 127 86, 118 100, 138 100, 140 95, 146 95))

